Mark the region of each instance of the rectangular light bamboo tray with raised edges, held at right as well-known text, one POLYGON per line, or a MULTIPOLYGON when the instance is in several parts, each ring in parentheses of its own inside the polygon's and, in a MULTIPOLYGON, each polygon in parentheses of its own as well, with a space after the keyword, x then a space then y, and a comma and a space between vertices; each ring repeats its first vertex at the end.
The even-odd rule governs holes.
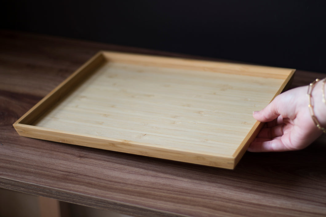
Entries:
POLYGON ((14 123, 21 136, 233 169, 293 69, 99 52, 14 123))

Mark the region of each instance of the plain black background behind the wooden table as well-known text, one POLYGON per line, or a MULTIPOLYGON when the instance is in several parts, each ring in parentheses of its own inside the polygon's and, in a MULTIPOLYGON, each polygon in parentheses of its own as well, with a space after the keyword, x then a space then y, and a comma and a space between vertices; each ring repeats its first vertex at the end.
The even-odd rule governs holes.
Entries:
POLYGON ((326 1, 6 1, 1 28, 326 73, 326 1))

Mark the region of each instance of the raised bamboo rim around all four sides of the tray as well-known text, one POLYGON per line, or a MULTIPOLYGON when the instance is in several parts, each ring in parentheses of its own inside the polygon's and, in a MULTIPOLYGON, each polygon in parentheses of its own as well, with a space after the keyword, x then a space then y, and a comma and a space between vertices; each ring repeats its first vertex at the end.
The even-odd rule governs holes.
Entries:
MULTIPOLYGON (((241 64, 241 63, 229 63, 229 62, 220 62, 220 61, 206 61, 206 60, 197 60, 197 59, 187 59, 187 58, 176 58, 176 57, 165 57, 165 56, 154 56, 154 55, 145 55, 145 54, 136 54, 136 53, 124 53, 124 52, 112 52, 112 51, 99 51, 92 58, 82 64, 75 72, 69 75, 63 82, 61 82, 56 88, 54 88, 50 93, 48 93, 42 100, 37 102, 31 109, 29 109, 24 115, 22 115, 14 124, 14 128, 19 135, 42 139, 53 142, 63 142, 68 144, 87 146, 100 148, 110 151, 118 151, 129 154, 164 158, 168 160, 176 160, 187 163, 195 163, 207 166, 214 166, 226 169, 234 169, 237 163, 240 161, 245 151, 247 150, 250 142, 257 136, 259 130, 263 126, 263 123, 256 121, 253 127, 249 130, 243 142, 238 146, 232 156, 229 155, 208 155, 205 153, 194 155, 193 152, 186 152, 182 150, 173 150, 170 148, 163 147, 154 147, 150 146, 148 143, 141 143, 135 141, 127 141, 121 139, 107 138, 101 136, 93 136, 90 134, 81 134, 76 132, 68 132, 62 130, 48 129, 44 127, 38 127, 32 125, 32 123, 43 113, 45 113, 52 105, 58 102, 65 93, 73 91, 80 82, 83 82, 87 79, 88 76, 92 74, 92 71, 96 71, 95 68, 99 67, 101 64, 110 60, 111 56, 115 55, 114 60, 123 59, 126 57, 137 57, 137 58, 149 58, 151 60, 160 60, 163 64, 166 64, 166 67, 175 66, 175 62, 181 62, 184 64, 199 64, 201 69, 205 65, 205 71, 214 71, 214 66, 234 66, 240 69, 244 68, 264 68, 272 70, 286 70, 289 71, 289 74, 284 76, 283 74, 275 75, 285 77, 283 83, 278 91, 275 93, 273 99, 280 94, 287 86, 290 84, 290 80, 293 78, 295 69, 288 68, 278 68, 270 66, 259 66, 251 64, 241 64), (118 57, 118 58, 116 58, 118 57), (172 63, 171 63, 172 61, 172 63), (207 67, 208 65, 208 67, 207 67), (72 138, 73 139, 72 139, 72 138), (49 139, 51 138, 51 139, 49 139), (96 142, 96 144, 94 144, 96 142), (102 143, 105 142, 105 146, 102 143), (133 149, 130 149, 131 145, 133 149), (99 147, 100 146, 100 147, 99 147), (136 148, 135 148, 136 147, 136 148), (153 149, 153 150, 151 150, 153 149), (173 152, 171 152, 173 151, 173 152), (191 153, 193 156, 189 158, 187 154, 191 153), (176 156, 175 156, 176 155, 176 156), (171 157, 173 156, 173 157, 171 157), (184 156, 182 158, 182 156, 184 156)), ((136 59, 137 59, 136 58, 136 59)), ((126 59, 125 59, 126 60, 126 59)), ((137 61, 137 60, 136 60, 137 61)), ((127 62, 136 63, 135 60, 127 60, 127 62)), ((156 64, 149 61, 149 64, 156 64)), ((178 65, 178 64, 177 64, 178 65)), ((192 66, 191 66, 192 67, 192 66)), ((236 73, 235 73, 236 74, 236 73)), ((268 74, 268 73, 267 73, 268 74)), ((250 76, 250 72, 247 76, 250 76)), ((255 75, 257 77, 257 75, 255 75)), ((262 74, 261 77, 267 76, 262 74)), ((276 77, 279 78, 279 77, 276 77)), ((279 78, 282 79, 282 78, 279 78)), ((273 100, 272 99, 272 100, 273 100)), ((272 101, 271 100, 271 101, 272 101)))

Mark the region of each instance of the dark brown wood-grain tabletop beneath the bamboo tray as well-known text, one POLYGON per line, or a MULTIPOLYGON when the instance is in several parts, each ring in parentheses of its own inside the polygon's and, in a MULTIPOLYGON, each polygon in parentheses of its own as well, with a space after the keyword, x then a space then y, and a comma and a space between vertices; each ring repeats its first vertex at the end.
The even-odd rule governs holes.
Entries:
MULTIPOLYGON (((187 57, 0 32, 0 187, 132 216, 326 215, 325 135, 235 170, 20 137, 12 124, 99 50, 187 57)), ((292 88, 324 76, 297 71, 292 88)))

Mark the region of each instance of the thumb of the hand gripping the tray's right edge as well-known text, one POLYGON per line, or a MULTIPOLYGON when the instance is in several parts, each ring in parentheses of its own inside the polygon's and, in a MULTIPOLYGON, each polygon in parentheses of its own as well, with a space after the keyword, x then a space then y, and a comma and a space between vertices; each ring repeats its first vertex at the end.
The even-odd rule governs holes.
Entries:
POLYGON ((264 109, 253 112, 253 117, 260 122, 269 122, 277 118, 280 115, 276 108, 277 100, 276 97, 264 109))

